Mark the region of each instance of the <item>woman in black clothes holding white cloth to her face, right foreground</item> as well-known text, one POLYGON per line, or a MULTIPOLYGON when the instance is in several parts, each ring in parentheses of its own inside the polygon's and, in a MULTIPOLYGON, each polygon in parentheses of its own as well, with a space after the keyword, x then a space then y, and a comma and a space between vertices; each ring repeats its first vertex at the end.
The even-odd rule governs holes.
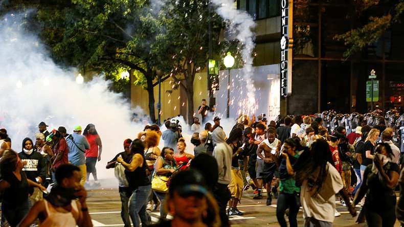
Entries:
POLYGON ((396 221, 396 195, 399 169, 391 162, 393 151, 387 143, 377 144, 374 149, 374 164, 368 165, 363 183, 358 189, 352 205, 355 206, 366 194, 365 217, 370 227, 394 226, 396 221))

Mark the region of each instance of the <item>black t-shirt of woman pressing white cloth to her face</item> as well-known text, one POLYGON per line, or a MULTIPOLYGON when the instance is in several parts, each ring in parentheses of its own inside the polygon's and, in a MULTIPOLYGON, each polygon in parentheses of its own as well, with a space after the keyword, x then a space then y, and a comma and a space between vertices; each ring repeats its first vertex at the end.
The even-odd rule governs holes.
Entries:
MULTIPOLYGON (((393 189, 386 188, 379 180, 378 174, 372 172, 372 166, 368 165, 363 175, 363 182, 366 182, 367 194, 365 204, 372 211, 387 211, 395 207, 396 195, 393 189)), ((392 162, 383 166, 386 174, 395 171, 400 174, 398 165, 392 162)))

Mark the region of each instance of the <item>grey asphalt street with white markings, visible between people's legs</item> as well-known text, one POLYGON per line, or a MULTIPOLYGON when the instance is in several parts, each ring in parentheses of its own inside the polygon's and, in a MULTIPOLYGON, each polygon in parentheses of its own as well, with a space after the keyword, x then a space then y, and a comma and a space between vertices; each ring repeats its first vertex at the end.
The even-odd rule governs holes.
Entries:
MULTIPOLYGON (((88 189, 87 191, 87 205, 94 226, 123 226, 118 189, 88 189)), ((261 200, 254 200, 252 197, 252 190, 244 191, 238 208, 245 214, 243 216, 231 216, 232 226, 279 226, 276 219, 276 199, 273 199, 272 206, 266 206, 266 197, 261 200)), ((364 226, 364 224, 355 224, 355 218, 339 202, 337 202, 336 209, 341 213, 341 216, 335 218, 334 226, 364 226)), ((357 207, 356 210, 359 211, 360 207, 357 207)), ((303 225, 302 215, 302 211, 299 211, 299 226, 303 225)), ((152 221, 157 221, 160 213, 158 211, 151 212, 150 216, 152 221)), ((399 226, 398 221, 395 226, 399 226)))

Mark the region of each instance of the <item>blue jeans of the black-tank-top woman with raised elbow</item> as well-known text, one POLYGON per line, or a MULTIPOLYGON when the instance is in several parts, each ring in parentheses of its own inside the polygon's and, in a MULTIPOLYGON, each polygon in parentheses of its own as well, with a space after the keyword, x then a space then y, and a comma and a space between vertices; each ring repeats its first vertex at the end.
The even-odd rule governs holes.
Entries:
POLYGON ((146 212, 147 198, 151 193, 151 185, 140 186, 132 191, 129 201, 129 215, 133 226, 147 226, 149 223, 146 212))

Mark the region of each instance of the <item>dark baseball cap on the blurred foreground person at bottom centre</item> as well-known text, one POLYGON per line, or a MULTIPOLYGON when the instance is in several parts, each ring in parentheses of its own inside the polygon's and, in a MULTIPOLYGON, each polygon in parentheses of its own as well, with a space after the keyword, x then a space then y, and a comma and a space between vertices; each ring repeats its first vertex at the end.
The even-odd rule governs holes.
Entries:
POLYGON ((196 169, 183 170, 175 174, 170 183, 169 193, 181 197, 204 196, 208 194, 205 179, 196 169))

